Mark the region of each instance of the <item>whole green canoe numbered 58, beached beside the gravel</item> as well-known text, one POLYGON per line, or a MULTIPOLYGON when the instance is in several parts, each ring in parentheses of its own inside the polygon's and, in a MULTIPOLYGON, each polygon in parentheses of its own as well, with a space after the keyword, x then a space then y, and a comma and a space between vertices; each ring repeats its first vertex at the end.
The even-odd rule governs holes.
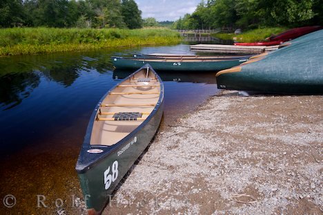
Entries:
POLYGON ((89 214, 104 209, 112 191, 146 149, 163 108, 164 85, 148 64, 101 98, 76 165, 89 214))

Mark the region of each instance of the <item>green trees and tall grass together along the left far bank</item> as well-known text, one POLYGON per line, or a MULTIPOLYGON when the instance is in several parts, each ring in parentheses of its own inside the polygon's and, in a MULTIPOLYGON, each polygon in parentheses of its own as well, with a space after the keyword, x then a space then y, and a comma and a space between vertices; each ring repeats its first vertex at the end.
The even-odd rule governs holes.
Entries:
POLYGON ((155 19, 141 19, 141 11, 134 0, 2 0, 0 55, 153 46, 181 41, 177 32, 166 28, 142 29, 157 24, 155 19))

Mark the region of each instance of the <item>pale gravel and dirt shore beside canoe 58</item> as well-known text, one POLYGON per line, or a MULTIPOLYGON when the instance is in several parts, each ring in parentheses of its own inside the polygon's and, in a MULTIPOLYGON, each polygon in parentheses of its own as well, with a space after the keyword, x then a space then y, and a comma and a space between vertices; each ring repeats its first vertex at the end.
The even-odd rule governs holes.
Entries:
POLYGON ((157 134, 103 214, 322 214, 322 104, 222 91, 157 134))

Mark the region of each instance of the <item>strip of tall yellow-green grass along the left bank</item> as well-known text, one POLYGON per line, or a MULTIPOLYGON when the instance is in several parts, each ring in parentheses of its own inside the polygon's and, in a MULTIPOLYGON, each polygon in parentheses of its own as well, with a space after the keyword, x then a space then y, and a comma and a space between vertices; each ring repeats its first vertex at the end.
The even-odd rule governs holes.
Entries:
POLYGON ((0 55, 177 44, 179 41, 179 33, 168 29, 5 28, 0 29, 0 55))

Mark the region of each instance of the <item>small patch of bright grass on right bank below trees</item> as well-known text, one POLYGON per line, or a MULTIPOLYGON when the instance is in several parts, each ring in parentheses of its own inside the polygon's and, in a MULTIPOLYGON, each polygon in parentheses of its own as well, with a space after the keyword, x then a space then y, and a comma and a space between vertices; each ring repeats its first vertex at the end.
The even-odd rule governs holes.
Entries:
POLYGON ((214 34, 213 37, 217 37, 219 39, 233 39, 239 42, 264 41, 264 39, 266 39, 267 37, 279 34, 284 30, 287 30, 287 28, 260 28, 255 30, 248 30, 246 32, 242 32, 242 34, 239 35, 235 35, 234 33, 218 33, 214 34))

